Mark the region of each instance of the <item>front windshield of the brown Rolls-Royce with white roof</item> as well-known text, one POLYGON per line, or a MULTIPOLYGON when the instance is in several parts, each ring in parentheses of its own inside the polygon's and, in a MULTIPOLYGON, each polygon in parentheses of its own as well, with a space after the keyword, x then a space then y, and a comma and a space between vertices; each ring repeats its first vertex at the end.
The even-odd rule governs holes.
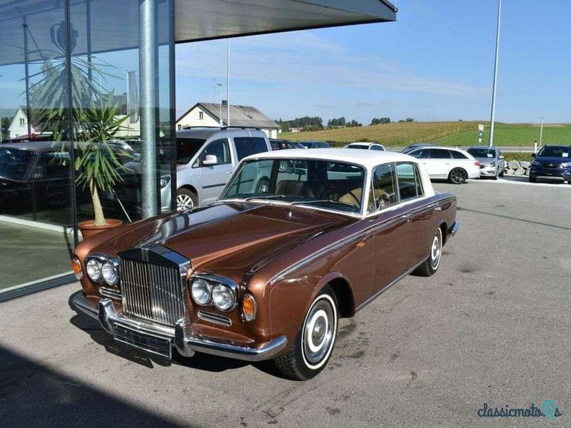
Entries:
POLYGON ((365 170, 343 162, 260 159, 241 164, 221 199, 281 200, 359 213, 365 170))

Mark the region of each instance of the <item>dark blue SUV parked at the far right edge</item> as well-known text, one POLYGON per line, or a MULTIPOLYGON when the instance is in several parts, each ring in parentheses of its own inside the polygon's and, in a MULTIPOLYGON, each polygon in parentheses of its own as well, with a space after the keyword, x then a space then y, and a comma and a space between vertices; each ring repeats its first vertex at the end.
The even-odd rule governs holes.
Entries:
POLYGON ((530 167, 530 182, 537 180, 571 183, 571 146, 543 146, 530 167))

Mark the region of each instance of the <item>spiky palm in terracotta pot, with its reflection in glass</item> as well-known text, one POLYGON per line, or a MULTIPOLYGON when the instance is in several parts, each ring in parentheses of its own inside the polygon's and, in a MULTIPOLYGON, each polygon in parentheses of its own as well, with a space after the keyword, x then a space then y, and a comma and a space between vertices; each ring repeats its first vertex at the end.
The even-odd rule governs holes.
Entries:
MULTIPOLYGON (((105 141, 112 140, 122 128, 128 116, 120 116, 121 102, 117 101, 113 91, 106 91, 95 83, 91 76, 104 73, 93 61, 73 58, 71 63, 71 99, 73 108, 67 108, 69 90, 64 60, 55 55, 44 61, 39 81, 31 86, 31 100, 34 106, 31 121, 34 127, 42 131, 51 131, 54 146, 68 151, 66 141, 74 141, 74 168, 76 184, 89 189, 93 205, 93 220, 79 223, 84 238, 121 225, 121 220, 106 219, 99 194, 112 191, 123 178, 123 164, 119 160, 128 157, 128 153, 113 150, 105 141), (89 72, 91 71, 91 73, 89 72), (69 119, 73 129, 69 128, 69 119), (70 138, 69 131, 73 132, 70 138)), ((62 157, 64 158, 64 157, 62 157)))

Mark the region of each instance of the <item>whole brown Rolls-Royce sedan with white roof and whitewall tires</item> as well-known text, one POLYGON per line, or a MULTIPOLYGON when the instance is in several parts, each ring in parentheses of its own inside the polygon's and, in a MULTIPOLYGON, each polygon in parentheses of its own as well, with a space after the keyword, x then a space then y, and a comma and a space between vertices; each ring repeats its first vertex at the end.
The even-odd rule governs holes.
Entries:
POLYGON ((338 320, 405 275, 433 275, 456 198, 415 158, 342 149, 245 158, 216 202, 107 230, 77 248, 73 303, 118 342, 171 358, 327 364, 338 320))

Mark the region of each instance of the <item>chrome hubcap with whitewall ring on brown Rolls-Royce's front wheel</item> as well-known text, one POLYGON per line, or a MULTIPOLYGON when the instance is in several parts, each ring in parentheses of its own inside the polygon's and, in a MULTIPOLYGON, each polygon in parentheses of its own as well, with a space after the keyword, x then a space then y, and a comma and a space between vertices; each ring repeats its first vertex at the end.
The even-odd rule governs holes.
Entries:
POLYGON ((303 354, 310 364, 317 364, 328 354, 335 333, 335 312, 328 300, 313 306, 303 328, 303 354))

